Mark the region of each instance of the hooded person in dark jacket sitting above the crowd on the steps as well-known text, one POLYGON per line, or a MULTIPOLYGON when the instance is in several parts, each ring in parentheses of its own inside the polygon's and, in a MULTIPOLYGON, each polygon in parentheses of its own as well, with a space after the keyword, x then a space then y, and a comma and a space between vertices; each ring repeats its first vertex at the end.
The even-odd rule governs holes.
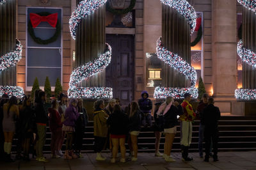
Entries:
POLYGON ((144 127, 152 127, 152 101, 148 98, 148 92, 141 92, 141 99, 138 101, 140 110, 143 112, 142 125, 144 127))

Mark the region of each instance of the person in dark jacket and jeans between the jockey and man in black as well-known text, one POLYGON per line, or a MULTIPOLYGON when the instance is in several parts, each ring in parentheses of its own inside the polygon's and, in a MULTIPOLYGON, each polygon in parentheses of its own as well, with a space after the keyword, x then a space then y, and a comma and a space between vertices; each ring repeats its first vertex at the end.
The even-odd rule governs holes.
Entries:
POLYGON ((202 113, 204 108, 208 105, 208 95, 204 93, 201 102, 196 108, 196 117, 200 120, 199 136, 198 136, 198 150, 200 158, 203 157, 203 142, 204 142, 204 123, 202 122, 202 113))

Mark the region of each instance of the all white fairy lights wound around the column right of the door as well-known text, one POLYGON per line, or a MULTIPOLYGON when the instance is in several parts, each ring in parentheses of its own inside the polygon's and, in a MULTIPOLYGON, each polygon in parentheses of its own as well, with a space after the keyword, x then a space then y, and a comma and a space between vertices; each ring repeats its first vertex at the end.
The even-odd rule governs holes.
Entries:
MULTIPOLYGON (((191 27, 191 34, 195 31, 196 27, 196 11, 193 6, 191 6, 185 0, 160 0, 161 3, 166 4, 173 9, 177 10, 186 20, 191 27)), ((186 79, 191 82, 190 88, 166 88, 166 87, 156 87, 154 91, 154 98, 183 98, 185 93, 190 93, 191 97, 198 97, 198 89, 195 88, 197 74, 195 68, 189 65, 184 59, 182 59, 178 54, 174 54, 163 47, 161 38, 157 40, 156 48, 157 57, 164 61, 164 63, 170 65, 172 68, 177 70, 179 73, 185 75, 186 79)))

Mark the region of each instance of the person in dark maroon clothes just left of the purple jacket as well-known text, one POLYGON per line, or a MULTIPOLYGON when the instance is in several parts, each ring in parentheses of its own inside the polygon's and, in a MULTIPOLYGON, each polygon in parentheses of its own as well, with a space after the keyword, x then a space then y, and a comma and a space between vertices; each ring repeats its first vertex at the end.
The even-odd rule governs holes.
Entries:
POLYGON ((58 111, 59 104, 56 99, 52 100, 52 107, 48 109, 49 111, 49 125, 52 132, 51 140, 51 152, 52 158, 60 158, 59 155, 56 155, 58 152, 58 146, 61 143, 61 134, 62 134, 62 122, 61 115, 58 111))

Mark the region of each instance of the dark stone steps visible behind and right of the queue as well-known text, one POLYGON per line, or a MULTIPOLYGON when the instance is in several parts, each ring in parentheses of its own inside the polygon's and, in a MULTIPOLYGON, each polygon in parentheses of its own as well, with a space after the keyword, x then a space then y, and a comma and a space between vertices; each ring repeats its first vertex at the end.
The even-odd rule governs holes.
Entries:
MULTIPOLYGON (((193 123, 191 152, 198 151, 198 129, 199 121, 193 123)), ((219 149, 220 151, 252 151, 256 150, 256 116, 222 116, 219 122, 219 149)), ((177 134, 173 143, 173 152, 180 151, 180 128, 177 128, 177 134)), ((13 142, 13 150, 17 141, 13 142)), ((142 128, 138 137, 139 151, 154 152, 155 136, 149 128, 142 128)), ((47 128, 47 140, 44 151, 51 151, 51 132, 47 128)), ((161 137, 160 151, 163 151, 164 135, 161 137)), ((83 151, 93 152, 93 122, 88 123, 83 141, 83 151)), ((63 145, 65 150, 65 145, 63 145)))

